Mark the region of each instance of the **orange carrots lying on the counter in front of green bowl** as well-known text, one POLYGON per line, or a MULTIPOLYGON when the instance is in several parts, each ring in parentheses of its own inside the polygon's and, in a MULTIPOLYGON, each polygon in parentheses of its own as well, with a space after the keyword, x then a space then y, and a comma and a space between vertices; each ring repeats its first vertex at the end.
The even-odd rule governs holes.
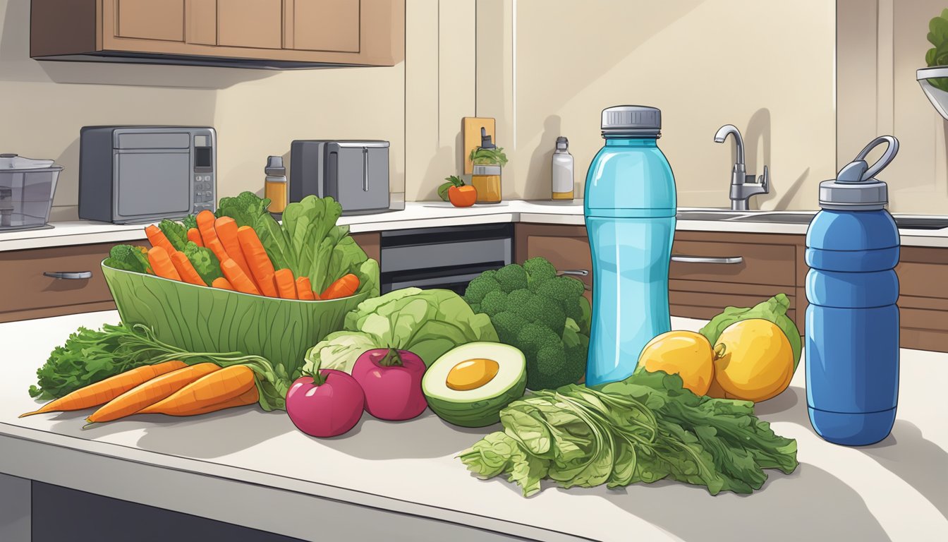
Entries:
POLYGON ((100 408, 86 419, 89 423, 132 414, 195 416, 253 404, 259 399, 254 371, 247 365, 221 368, 217 364, 189 365, 174 360, 142 365, 89 384, 20 418, 95 406, 100 408))

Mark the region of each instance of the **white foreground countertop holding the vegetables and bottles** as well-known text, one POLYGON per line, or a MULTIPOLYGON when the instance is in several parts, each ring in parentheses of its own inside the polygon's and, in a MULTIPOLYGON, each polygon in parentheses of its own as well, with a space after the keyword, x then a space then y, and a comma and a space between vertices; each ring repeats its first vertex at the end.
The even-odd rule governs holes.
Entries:
POLYGON ((895 428, 862 448, 813 433, 801 363, 787 391, 757 406, 777 434, 797 439, 800 466, 767 471, 754 495, 660 481, 614 491, 544 484, 525 499, 454 458, 494 428, 453 427, 429 411, 401 423, 364 415, 335 439, 309 438, 283 412, 256 407, 86 430, 86 411, 17 418, 36 408, 27 387, 53 346, 79 326, 117 322, 103 311, 0 325, 0 473, 308 540, 948 539, 948 354, 902 349, 895 428))

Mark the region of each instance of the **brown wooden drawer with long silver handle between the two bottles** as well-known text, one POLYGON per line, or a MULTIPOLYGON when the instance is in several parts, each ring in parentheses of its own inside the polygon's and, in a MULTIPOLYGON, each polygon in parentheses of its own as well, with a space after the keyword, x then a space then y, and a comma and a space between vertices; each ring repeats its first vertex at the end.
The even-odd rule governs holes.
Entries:
POLYGON ((736 257, 739 263, 672 261, 669 277, 682 280, 772 285, 792 289, 796 285, 792 245, 721 243, 675 240, 671 253, 677 256, 736 257))

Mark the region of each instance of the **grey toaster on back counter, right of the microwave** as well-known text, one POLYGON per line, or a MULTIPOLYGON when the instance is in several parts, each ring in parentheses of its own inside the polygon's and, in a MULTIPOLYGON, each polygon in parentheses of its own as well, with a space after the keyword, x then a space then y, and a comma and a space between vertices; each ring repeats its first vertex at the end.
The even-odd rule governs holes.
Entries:
POLYGON ((289 200, 331 196, 343 215, 390 210, 389 141, 294 140, 289 200))

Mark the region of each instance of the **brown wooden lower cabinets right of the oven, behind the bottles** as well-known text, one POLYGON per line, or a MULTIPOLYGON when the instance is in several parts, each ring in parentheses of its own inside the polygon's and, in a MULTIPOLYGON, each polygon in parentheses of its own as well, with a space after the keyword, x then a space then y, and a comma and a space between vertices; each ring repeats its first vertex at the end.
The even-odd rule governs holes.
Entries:
MULTIPOLYGON (((544 256, 557 270, 589 271, 593 262, 583 226, 518 224, 515 259, 544 256)), ((753 307, 785 293, 787 314, 805 332, 807 271, 805 236, 675 233, 668 280, 672 316, 709 319, 725 307, 753 307), (713 263, 714 262, 714 263, 713 263)), ((901 346, 948 351, 948 249, 902 247, 899 266, 901 346)), ((591 297, 591 291, 587 292, 591 297)))

